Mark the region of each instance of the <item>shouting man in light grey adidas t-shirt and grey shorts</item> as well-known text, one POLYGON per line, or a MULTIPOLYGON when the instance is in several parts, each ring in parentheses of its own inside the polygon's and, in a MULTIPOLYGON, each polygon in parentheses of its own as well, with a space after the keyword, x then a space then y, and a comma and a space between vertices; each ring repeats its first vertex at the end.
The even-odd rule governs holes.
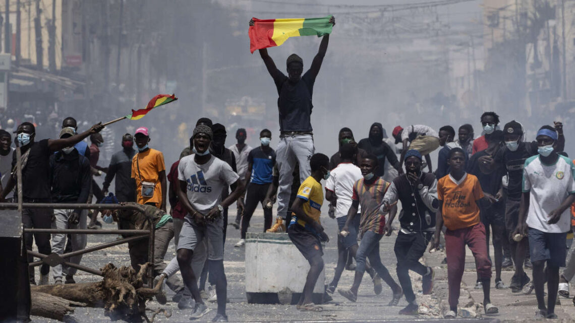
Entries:
POLYGON ((228 163, 210 155, 208 148, 212 142, 212 129, 199 125, 192 137, 196 153, 183 157, 178 166, 178 197, 188 214, 179 235, 177 259, 183 281, 196 301, 190 320, 196 320, 208 313, 209 309, 200 296, 190 260, 200 241, 206 238, 208 268, 210 275, 216 279, 218 306, 213 322, 227 322, 225 303, 228 283, 224 272, 224 220, 221 212, 240 197, 244 185, 228 163), (232 184, 236 185, 236 189, 221 201, 221 191, 232 184))

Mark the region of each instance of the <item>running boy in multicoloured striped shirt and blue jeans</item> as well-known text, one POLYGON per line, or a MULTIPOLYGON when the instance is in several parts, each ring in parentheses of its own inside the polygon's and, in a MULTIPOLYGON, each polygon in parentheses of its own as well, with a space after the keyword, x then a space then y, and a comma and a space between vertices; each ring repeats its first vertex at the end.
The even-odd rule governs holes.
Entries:
MULTIPOLYGON (((349 290, 338 289, 338 292, 352 302, 357 301, 358 289, 366 271, 366 260, 369 257, 371 267, 375 272, 391 287, 393 291, 392 301, 389 306, 396 306, 403 295, 401 287, 393 280, 389 274, 388 268, 385 268, 379 257, 379 240, 386 232, 391 230, 385 223, 385 215, 380 212, 384 195, 389 188, 389 183, 385 182, 377 172, 378 158, 374 155, 367 155, 361 163, 361 174, 363 178, 354 184, 354 193, 351 197, 351 207, 347 213, 346 225, 343 226, 342 232, 349 232, 350 226, 358 213, 361 205, 361 220, 359 224, 359 233, 362 236, 358 252, 355 255, 355 277, 354 283, 349 290)), ((390 217, 395 216, 397 206, 390 208, 390 217)), ((340 233, 341 234, 341 233, 340 233)), ((344 233, 345 234, 345 233, 344 233)))

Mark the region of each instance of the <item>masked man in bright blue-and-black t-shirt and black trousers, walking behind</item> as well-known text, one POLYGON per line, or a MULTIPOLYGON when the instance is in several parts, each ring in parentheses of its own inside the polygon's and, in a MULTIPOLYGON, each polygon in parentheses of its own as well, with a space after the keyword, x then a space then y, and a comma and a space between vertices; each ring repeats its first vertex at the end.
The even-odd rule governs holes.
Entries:
POLYGON ((263 207, 263 232, 271 228, 271 207, 263 205, 267 191, 273 182, 273 169, 275 165, 275 151, 270 147, 271 132, 263 129, 259 133, 260 146, 252 149, 248 154, 248 166, 244 174, 247 187, 246 210, 241 217, 241 236, 235 247, 244 247, 246 233, 250 226, 251 217, 259 203, 263 207))

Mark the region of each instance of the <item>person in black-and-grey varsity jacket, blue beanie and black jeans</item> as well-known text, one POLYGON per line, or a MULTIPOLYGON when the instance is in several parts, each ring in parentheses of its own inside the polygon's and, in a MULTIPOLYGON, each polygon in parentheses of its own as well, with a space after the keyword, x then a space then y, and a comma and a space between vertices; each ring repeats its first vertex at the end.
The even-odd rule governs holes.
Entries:
MULTIPOLYGON (((405 294, 408 305, 399 311, 402 315, 416 315, 419 310, 409 278, 409 270, 421 275, 423 295, 431 294, 434 272, 419 262, 431 241, 435 230, 437 200, 437 180, 430 173, 421 171, 421 154, 416 150, 405 153, 405 175, 397 176, 384 196, 381 212, 386 213, 390 205, 401 201, 401 229, 397 233, 395 247, 397 257, 397 279, 405 294)), ((387 235, 392 231, 395 214, 389 217, 387 235)))

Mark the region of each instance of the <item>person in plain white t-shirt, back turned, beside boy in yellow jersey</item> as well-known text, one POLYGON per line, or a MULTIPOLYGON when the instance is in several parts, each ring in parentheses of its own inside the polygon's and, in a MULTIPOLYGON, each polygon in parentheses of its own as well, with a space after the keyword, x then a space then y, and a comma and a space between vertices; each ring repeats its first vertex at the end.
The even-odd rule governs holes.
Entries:
MULTIPOLYGON (((333 279, 328 284, 325 291, 333 294, 338 287, 339 278, 347 262, 347 255, 355 258, 355 253, 358 251, 358 233, 359 217, 354 218, 354 225, 349 227, 347 236, 342 236, 339 232, 343 226, 346 225, 347 213, 351 207, 351 195, 353 195, 354 184, 359 179, 363 178, 359 167, 353 164, 356 160, 357 148, 352 144, 343 144, 339 149, 339 157, 341 163, 336 168, 333 168, 329 173, 329 178, 325 182, 325 199, 335 205, 334 217, 338 221, 338 265, 335 268, 333 279), (357 220, 357 221, 355 221, 357 220)), ((358 209, 359 212, 359 209, 358 209)), ((367 265, 367 264, 366 264, 367 265)), ((371 266, 366 266, 366 271, 371 278, 374 278, 374 270, 371 266)), ((373 280, 375 294, 380 294, 382 290, 381 278, 376 276, 373 280)))

